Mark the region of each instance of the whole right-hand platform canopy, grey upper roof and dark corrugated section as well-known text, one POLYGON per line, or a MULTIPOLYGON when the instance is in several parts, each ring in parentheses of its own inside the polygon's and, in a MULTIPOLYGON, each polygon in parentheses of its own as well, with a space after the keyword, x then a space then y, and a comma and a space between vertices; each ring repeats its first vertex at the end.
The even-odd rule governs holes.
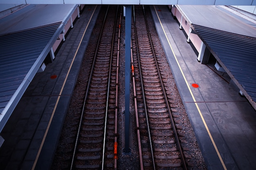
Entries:
POLYGON ((239 11, 222 6, 177 5, 177 9, 256 109, 255 15, 239 16, 234 13, 239 11))

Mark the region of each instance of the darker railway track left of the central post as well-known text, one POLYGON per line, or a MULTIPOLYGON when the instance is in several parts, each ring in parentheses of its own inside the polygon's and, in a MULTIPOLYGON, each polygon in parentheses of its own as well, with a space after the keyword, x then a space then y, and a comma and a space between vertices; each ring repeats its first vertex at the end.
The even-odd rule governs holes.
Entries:
POLYGON ((103 6, 102 11, 106 15, 101 16, 104 21, 99 35, 96 36, 95 51, 92 51, 92 69, 87 87, 84 84, 81 90, 79 98, 83 98, 83 102, 80 100, 81 108, 77 108, 79 113, 74 116, 70 133, 72 156, 67 159, 64 169, 117 168, 121 7, 103 6), (76 135, 74 132, 77 132, 76 135))

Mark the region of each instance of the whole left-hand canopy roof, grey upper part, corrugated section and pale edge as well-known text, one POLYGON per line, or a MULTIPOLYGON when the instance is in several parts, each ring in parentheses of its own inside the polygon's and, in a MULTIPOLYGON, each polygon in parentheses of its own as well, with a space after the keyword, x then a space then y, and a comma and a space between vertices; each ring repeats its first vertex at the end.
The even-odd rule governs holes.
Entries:
POLYGON ((0 132, 77 7, 29 5, 0 20, 0 132))

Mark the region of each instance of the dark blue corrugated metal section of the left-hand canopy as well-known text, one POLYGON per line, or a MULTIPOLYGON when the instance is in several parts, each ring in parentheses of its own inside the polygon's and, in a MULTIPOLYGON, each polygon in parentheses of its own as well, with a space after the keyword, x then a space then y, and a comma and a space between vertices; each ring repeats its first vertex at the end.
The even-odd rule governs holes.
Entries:
POLYGON ((0 113, 60 24, 0 35, 0 113))

